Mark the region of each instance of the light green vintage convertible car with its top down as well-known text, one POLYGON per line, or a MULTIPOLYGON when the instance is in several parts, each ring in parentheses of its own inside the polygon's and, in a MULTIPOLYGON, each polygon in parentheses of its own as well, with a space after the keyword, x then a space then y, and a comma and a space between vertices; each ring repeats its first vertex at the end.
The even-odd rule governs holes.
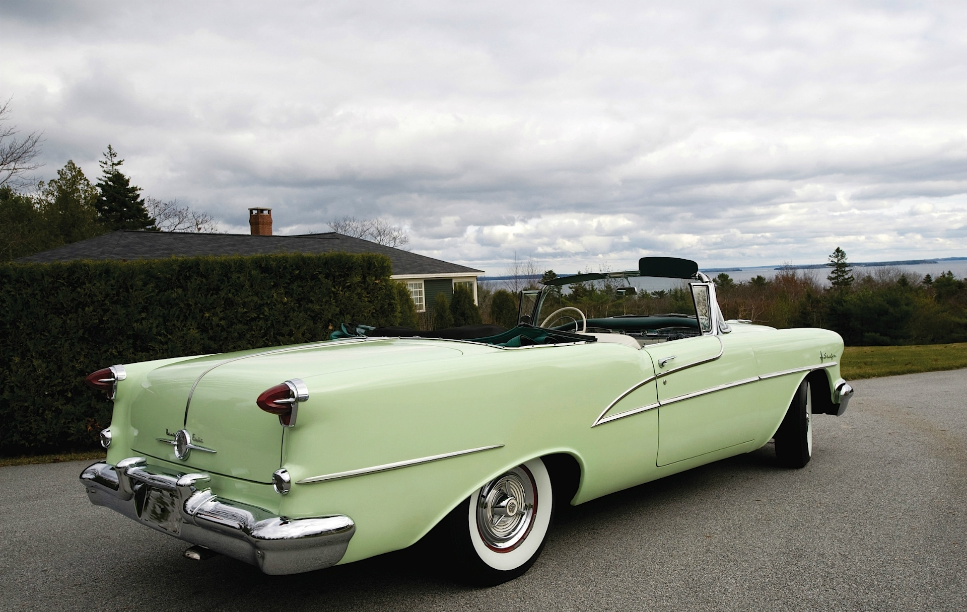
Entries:
POLYGON ((523 292, 517 327, 485 337, 354 326, 104 368, 88 382, 114 401, 107 460, 80 481, 195 559, 296 573, 429 535, 467 579, 497 584, 540 555, 555 505, 773 438, 782 464, 806 465, 812 415, 842 414, 853 393, 839 335, 725 321, 689 260, 554 282, 632 276, 680 278, 694 312, 546 314, 544 289, 523 292))

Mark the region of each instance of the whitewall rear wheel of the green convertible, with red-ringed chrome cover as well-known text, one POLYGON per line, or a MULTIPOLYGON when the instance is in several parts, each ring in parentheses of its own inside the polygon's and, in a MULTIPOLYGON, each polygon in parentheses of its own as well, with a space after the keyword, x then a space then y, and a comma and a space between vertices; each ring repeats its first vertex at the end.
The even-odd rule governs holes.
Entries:
POLYGON ((445 519, 458 577, 493 586, 523 574, 541 555, 553 510, 540 458, 484 484, 445 519))

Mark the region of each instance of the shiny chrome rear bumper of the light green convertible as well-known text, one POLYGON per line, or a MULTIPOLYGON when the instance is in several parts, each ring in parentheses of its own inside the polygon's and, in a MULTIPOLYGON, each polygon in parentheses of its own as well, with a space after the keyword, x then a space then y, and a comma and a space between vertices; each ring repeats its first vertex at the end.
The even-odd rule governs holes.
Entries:
POLYGON ((356 532, 352 519, 341 514, 289 519, 220 499, 201 486, 209 480, 207 474, 148 466, 145 457, 117 465, 99 461, 80 474, 91 503, 268 574, 334 566, 356 532))

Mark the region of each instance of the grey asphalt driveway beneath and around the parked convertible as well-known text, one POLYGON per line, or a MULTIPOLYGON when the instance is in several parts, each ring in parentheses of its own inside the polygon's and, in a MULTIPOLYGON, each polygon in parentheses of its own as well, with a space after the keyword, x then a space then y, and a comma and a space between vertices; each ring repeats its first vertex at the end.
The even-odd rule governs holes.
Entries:
POLYGON ((82 463, 0 468, 3 610, 967 610, 967 370, 854 384, 803 470, 772 446, 561 516, 486 590, 411 551, 294 576, 94 507, 82 463))

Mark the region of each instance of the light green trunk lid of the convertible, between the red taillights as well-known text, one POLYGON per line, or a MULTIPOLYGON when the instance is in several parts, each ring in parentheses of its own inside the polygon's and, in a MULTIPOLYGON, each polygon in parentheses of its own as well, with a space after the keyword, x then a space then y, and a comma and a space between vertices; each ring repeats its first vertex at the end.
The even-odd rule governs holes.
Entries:
MULTIPOLYGON (((142 393, 145 400, 135 403, 132 447, 194 470, 271 482, 281 461, 283 427, 277 416, 255 405, 259 393, 291 378, 453 359, 461 354, 458 345, 387 339, 262 349, 165 365, 149 375, 142 393), (178 459, 174 447, 157 438, 171 440, 168 434, 181 428, 190 432, 192 444, 215 452, 195 449, 185 460, 178 459)), ((318 397, 320 391, 310 385, 307 403, 313 392, 318 397)))

